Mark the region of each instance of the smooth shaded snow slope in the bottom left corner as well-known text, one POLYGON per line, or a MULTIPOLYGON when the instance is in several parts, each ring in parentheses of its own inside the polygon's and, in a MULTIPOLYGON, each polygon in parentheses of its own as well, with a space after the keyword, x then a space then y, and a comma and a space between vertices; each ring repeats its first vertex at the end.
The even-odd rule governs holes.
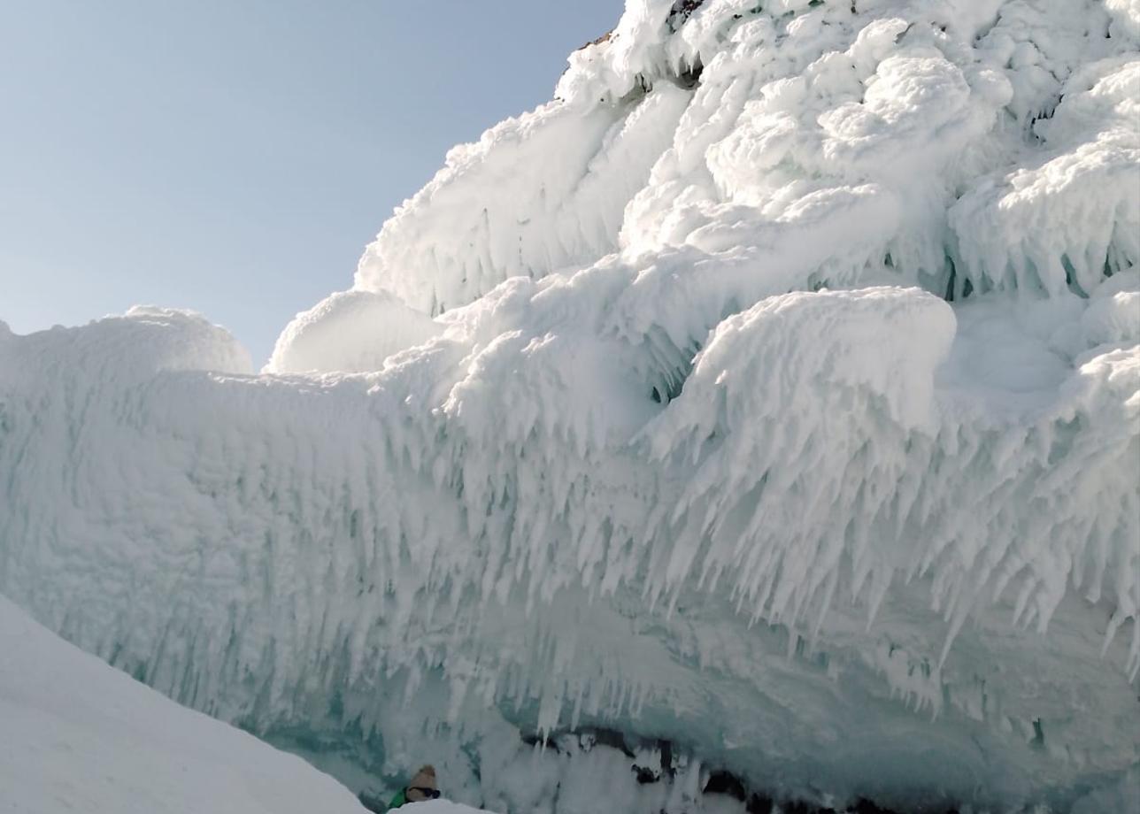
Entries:
MULTIPOLYGON (((0 653, 5 812, 365 812, 348 789, 300 758, 179 707, 2 596, 0 653)), ((441 806, 438 814, 461 811, 471 809, 441 806)))

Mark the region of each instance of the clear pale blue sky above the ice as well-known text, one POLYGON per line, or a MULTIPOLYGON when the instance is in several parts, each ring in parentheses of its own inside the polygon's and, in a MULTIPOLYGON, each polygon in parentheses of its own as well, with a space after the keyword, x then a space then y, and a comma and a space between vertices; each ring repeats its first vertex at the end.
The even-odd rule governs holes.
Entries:
POLYGON ((622 0, 11 0, 0 319, 193 308, 260 364, 448 147, 545 100, 622 0))

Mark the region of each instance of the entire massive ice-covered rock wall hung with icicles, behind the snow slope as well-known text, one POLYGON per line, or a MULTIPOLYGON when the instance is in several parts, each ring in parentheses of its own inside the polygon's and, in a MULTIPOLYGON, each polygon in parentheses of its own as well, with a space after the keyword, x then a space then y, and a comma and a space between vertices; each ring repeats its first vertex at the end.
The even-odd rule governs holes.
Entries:
POLYGON ((1138 38, 1134 0, 629 0, 266 373, 177 311, 0 332, 0 592, 356 785, 1108 809, 1138 38))

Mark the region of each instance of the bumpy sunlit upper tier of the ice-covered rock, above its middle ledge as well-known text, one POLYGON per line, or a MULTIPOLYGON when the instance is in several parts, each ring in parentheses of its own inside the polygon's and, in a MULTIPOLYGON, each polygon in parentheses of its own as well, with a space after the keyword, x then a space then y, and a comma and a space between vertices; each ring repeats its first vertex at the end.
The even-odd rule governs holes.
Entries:
MULTIPOLYGON (((939 293, 1056 293, 1067 267, 1088 291, 1106 260, 1137 261, 1134 2, 687 6, 632 0, 606 42, 572 55, 561 103, 453 150, 384 225, 357 286, 434 312, 508 276, 687 246, 718 262, 684 293, 711 276, 698 303, 723 311, 725 285, 739 306, 866 279, 888 257, 890 278, 939 293), (570 148, 593 152, 546 160, 570 148), (644 160, 649 181, 630 189, 644 160), (510 182, 520 162, 530 172, 510 182), (589 197, 603 186, 618 209, 589 197)), ((634 264, 643 285, 660 276, 634 264)))

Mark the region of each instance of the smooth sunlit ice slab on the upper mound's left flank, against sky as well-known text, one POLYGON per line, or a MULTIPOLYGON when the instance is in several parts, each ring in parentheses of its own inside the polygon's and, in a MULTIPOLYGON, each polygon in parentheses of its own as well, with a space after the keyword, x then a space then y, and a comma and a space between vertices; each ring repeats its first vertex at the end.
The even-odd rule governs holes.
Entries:
POLYGON ((438 314, 507 277, 580 266, 600 246, 614 247, 622 209, 668 147, 689 99, 668 87, 632 109, 554 103, 453 148, 439 174, 365 250, 359 287, 391 291, 438 314))

